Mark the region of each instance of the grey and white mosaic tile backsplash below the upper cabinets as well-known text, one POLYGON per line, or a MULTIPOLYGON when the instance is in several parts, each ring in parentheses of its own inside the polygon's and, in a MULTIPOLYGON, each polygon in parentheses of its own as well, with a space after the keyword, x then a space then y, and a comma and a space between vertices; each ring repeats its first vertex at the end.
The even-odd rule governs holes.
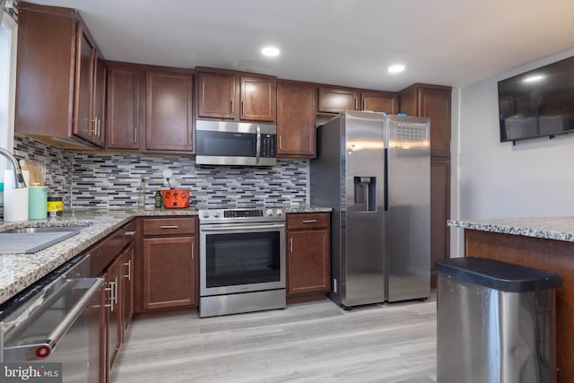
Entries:
POLYGON ((19 159, 46 165, 48 196, 63 196, 70 207, 136 205, 145 187, 153 205, 158 187, 169 187, 163 170, 173 172, 170 186, 190 189, 198 205, 303 205, 308 161, 278 160, 272 168, 196 166, 192 157, 74 153, 16 136, 19 159))

